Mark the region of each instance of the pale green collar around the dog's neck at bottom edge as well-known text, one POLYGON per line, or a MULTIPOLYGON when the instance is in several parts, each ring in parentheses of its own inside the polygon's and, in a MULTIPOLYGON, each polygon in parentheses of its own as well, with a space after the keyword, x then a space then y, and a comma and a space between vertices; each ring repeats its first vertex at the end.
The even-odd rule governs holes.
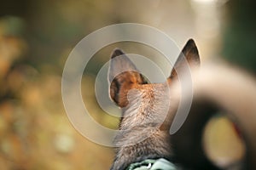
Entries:
POLYGON ((158 160, 147 159, 132 163, 126 170, 177 170, 177 167, 164 158, 158 160))

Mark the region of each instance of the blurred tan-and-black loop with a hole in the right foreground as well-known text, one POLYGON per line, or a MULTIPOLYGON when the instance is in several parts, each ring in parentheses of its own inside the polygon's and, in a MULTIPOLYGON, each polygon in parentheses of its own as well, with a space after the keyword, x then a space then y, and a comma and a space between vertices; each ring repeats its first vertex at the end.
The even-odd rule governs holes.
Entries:
MULTIPOLYGON (((220 166, 220 169, 256 168, 255 87, 256 81, 253 77, 220 62, 201 68, 201 74, 195 77, 194 101, 189 116, 183 127, 173 135, 173 148, 180 164, 189 169, 218 169, 212 163, 220 166), (245 153, 234 156, 233 161, 219 159, 219 162, 211 162, 202 138, 207 122, 220 112, 236 124, 234 131, 239 129, 241 141, 245 144, 245 153)), ((223 132, 217 133, 224 133, 225 129, 220 129, 223 132)), ((234 143, 235 141, 230 141, 228 144, 234 143)), ((215 158, 221 158, 221 154, 218 156, 215 158)))

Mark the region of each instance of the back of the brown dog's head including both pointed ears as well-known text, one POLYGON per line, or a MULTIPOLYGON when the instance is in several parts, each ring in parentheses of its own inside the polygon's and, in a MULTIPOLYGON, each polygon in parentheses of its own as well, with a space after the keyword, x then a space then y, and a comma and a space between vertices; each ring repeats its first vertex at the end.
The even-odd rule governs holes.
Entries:
MULTIPOLYGON (((172 84, 178 82, 177 72, 183 72, 185 68, 188 71, 188 65, 189 68, 200 65, 198 49, 192 39, 189 39, 185 44, 166 82, 148 83, 147 79, 143 77, 143 73, 137 70, 136 64, 132 63, 131 59, 122 50, 116 48, 111 55, 108 71, 110 98, 123 110, 133 107, 132 110, 135 111, 137 108, 141 108, 137 111, 135 117, 142 117, 142 114, 143 117, 148 116, 148 114, 154 116, 154 112, 158 115, 155 117, 159 117, 161 112, 166 113, 168 110, 173 111, 175 109, 166 107, 170 103, 168 100, 175 95, 170 93, 169 89, 172 91, 172 84)), ((176 102, 175 105, 178 105, 178 103, 176 102)), ((165 117, 166 115, 160 118, 164 119, 165 117)), ((170 120, 172 120, 172 117, 169 117, 170 120)), ((142 123, 139 119, 137 121, 142 123)))

